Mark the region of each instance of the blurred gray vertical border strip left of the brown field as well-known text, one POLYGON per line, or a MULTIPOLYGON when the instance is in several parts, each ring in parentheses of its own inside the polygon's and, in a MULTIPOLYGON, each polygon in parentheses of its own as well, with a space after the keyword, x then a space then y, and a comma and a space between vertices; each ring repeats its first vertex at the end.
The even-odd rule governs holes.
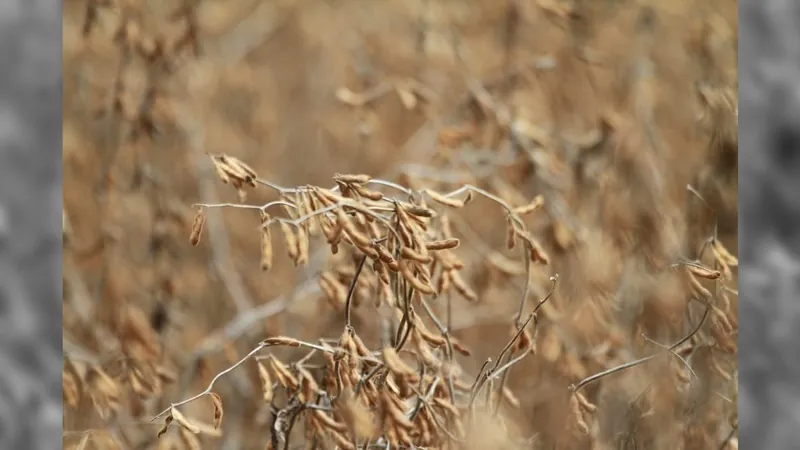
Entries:
POLYGON ((0 1, 0 449, 60 448, 61 1, 0 1))

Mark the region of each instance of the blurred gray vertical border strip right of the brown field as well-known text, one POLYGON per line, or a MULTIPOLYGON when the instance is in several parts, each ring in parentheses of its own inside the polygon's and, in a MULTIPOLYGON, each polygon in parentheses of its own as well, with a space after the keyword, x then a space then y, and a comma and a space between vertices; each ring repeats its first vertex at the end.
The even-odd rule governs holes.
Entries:
POLYGON ((740 448, 800 448, 800 3, 739 2, 740 448))

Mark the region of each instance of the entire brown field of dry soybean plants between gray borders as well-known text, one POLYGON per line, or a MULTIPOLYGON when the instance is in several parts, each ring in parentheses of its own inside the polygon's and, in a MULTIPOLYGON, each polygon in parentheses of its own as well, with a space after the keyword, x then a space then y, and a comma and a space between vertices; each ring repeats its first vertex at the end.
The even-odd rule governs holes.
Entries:
POLYGON ((736 9, 65 0, 65 448, 737 448, 736 9))

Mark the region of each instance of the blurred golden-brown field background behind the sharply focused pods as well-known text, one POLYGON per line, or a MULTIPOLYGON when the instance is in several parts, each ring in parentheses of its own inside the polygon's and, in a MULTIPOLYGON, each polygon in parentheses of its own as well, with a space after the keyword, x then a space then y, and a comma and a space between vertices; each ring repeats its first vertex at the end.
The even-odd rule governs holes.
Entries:
MULTIPOLYGON (((529 304, 560 281, 504 414, 530 448, 589 448, 566 387, 657 351, 642 333, 683 337, 700 313, 665 268, 715 234, 738 251, 737 36, 735 0, 65 0, 65 446, 174 448, 150 418, 260 339, 340 332, 317 284, 324 242, 307 266, 264 273, 258 220, 213 210, 189 244, 192 204, 237 201, 206 155, 226 153, 283 186, 341 172, 543 195, 528 227, 551 263, 529 304), (125 363, 146 350, 163 381, 148 389, 125 363)), ((508 341, 524 277, 509 275, 519 255, 496 205, 476 200, 453 225, 479 301, 455 299, 452 326, 476 373, 508 341)), ((737 303, 722 312, 736 329, 737 303)), ((369 305, 356 316, 375 346, 369 305)), ((687 392, 657 366, 587 388, 592 448, 735 448, 733 336, 697 344, 687 392)), ((223 437, 203 448, 264 448, 258 389, 252 366, 220 382, 223 437)), ((501 438, 487 445, 515 448, 501 438)))

